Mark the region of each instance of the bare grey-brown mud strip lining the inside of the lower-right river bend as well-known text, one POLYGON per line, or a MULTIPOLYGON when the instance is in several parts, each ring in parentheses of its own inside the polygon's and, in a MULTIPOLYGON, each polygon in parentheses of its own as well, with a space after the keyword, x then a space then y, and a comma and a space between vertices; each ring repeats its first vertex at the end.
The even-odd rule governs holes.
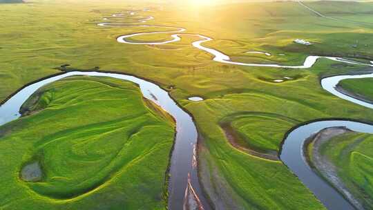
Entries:
POLYGON ((321 154, 323 144, 332 140, 333 137, 345 133, 354 133, 346 127, 331 127, 315 133, 309 137, 303 145, 303 155, 305 160, 318 175, 332 185, 339 193, 345 197, 356 209, 363 210, 363 204, 358 200, 339 178, 336 166, 329 161, 325 155, 321 154))

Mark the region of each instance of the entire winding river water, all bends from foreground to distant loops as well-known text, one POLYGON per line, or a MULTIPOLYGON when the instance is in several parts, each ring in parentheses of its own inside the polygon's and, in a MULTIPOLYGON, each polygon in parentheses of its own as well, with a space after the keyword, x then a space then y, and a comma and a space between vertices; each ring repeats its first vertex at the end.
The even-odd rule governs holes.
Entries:
MULTIPOLYGON (((133 15, 133 14, 132 14, 133 15)), ((123 17, 122 14, 115 14, 113 17, 123 17)), ((105 18, 108 20, 108 18, 105 18)), ((153 19, 153 17, 147 17, 146 19, 140 19, 140 22, 144 23, 153 19)), ((312 67, 316 61, 320 58, 325 59, 332 59, 334 61, 345 62, 349 64, 359 64, 364 66, 373 66, 373 63, 366 64, 361 63, 358 61, 352 61, 348 59, 338 58, 338 57, 321 57, 321 56, 309 56, 305 59, 303 65, 300 66, 286 66, 286 65, 279 65, 279 64, 249 64, 249 63, 241 63, 241 62, 234 62, 231 61, 228 55, 221 53, 218 50, 213 48, 207 48, 202 46, 204 42, 211 41, 210 37, 204 35, 191 35, 191 34, 179 34, 180 32, 184 32, 185 28, 173 27, 173 26, 157 26, 157 25, 130 25, 130 26, 123 26, 122 23, 99 23, 98 26, 111 26, 111 27, 162 27, 162 28, 172 28, 175 30, 171 31, 156 31, 156 32, 140 32, 134 33, 131 35, 122 35, 117 38, 117 41, 124 44, 150 44, 150 45, 157 45, 157 44, 169 44, 175 41, 180 41, 181 35, 189 35, 189 36, 197 36, 201 39, 198 41, 194 41, 192 46, 198 48, 200 50, 204 50, 207 53, 213 55, 214 61, 219 61, 225 64, 234 64, 240 66, 262 66, 262 67, 274 67, 274 68, 310 68, 312 67), (173 39, 169 41, 160 41, 160 42, 134 42, 128 41, 127 38, 135 37, 140 35, 147 35, 147 34, 157 34, 157 33, 177 33, 171 35, 173 39)), ((170 115, 172 115, 176 120, 176 139, 175 139, 175 147, 171 157, 171 167, 170 173, 171 178, 169 182, 169 208, 170 209, 182 209, 182 204, 185 201, 186 189, 191 188, 191 191, 195 195, 195 199, 200 204, 200 209, 211 209, 207 200, 204 198, 202 194, 202 189, 200 187, 198 181, 198 174, 196 169, 196 158, 195 158, 195 144, 197 142, 197 129, 195 128, 195 124, 193 119, 190 115, 188 115, 185 111, 182 110, 178 106, 178 104, 173 101, 173 99, 169 96, 169 94, 151 82, 148 82, 144 79, 140 79, 130 75, 123 75, 119 73, 102 73, 102 72, 80 72, 80 71, 73 71, 64 73, 61 75, 56 75, 53 77, 49 77, 47 79, 43 79, 39 82, 34 84, 30 84, 25 88, 22 88, 19 92, 15 95, 10 97, 2 106, 0 106, 0 126, 10 122, 12 120, 16 120, 20 117, 19 108, 23 102, 26 102, 26 99, 35 93, 38 88, 49 84, 51 82, 55 82, 59 79, 63 79, 65 77, 74 76, 74 75, 88 75, 88 76, 102 76, 102 77, 113 77, 117 79, 123 79, 126 81, 134 82, 138 84, 142 90, 142 94, 146 99, 150 99, 151 101, 155 102, 161 106, 165 111, 167 111, 170 115)), ((365 77, 373 77, 372 74, 365 74, 365 75, 340 75, 334 77, 327 77, 321 81, 321 84, 325 90, 329 93, 336 95, 337 97, 341 97, 343 99, 349 100, 350 102, 354 102, 356 104, 360 104, 362 106, 366 106, 368 108, 373 108, 372 104, 368 104, 366 102, 362 102, 361 100, 355 99, 353 97, 344 95, 336 90, 335 86, 338 84, 339 81, 342 79, 348 78, 365 78, 365 77)), ((363 124, 360 122, 351 122, 345 120, 325 120, 321 122, 312 122, 309 124, 305 124, 303 126, 299 126, 295 128, 293 131, 289 133, 287 138, 284 141, 283 149, 280 153, 280 159, 289 166, 291 171, 294 171, 296 175, 302 180, 303 183, 306 184, 309 189, 316 195, 316 197, 325 204, 325 207, 328 209, 354 209, 352 205, 343 198, 343 196, 338 193, 334 188, 330 187, 325 180, 320 178, 312 169, 309 168, 307 162, 305 162, 304 154, 303 154, 303 144, 307 137, 311 136, 312 133, 321 131, 323 128, 333 127, 333 126, 346 126, 353 131, 358 132, 365 132, 365 133, 373 133, 373 126, 369 124, 363 124)))

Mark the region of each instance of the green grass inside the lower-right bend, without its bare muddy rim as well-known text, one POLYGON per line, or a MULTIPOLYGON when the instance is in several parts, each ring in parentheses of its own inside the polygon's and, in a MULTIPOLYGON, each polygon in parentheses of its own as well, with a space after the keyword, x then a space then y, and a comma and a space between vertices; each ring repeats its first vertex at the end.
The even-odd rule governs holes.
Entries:
POLYGON ((321 146, 321 154, 336 166, 338 176, 365 209, 373 208, 372 151, 373 136, 366 133, 338 135, 321 146))

